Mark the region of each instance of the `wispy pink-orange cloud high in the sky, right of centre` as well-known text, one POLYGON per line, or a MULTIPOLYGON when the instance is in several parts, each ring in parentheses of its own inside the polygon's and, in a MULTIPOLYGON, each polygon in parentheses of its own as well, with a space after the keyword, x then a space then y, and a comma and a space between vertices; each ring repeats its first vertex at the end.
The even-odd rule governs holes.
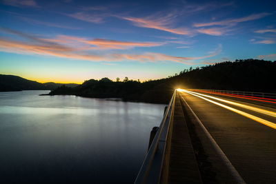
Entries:
POLYGON ((172 28, 170 26, 172 24, 172 19, 174 19, 175 17, 176 17, 175 14, 168 14, 165 17, 155 14, 146 18, 135 18, 135 17, 119 17, 119 18, 131 21, 135 26, 141 27, 141 28, 152 28, 155 30, 171 32, 173 34, 192 35, 193 32, 191 32, 188 28, 172 28))

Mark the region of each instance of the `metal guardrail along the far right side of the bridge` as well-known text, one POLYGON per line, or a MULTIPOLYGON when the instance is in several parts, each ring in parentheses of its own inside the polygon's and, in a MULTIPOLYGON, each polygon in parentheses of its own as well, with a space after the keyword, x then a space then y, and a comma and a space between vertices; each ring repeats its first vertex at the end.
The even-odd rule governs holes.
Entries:
POLYGON ((206 92, 218 92, 224 94, 234 94, 234 95, 242 95, 242 96, 252 96, 257 98, 268 98, 268 99, 276 99, 275 93, 266 93, 266 92, 241 92, 241 91, 230 91, 230 90, 205 90, 205 89, 189 89, 193 90, 200 90, 206 92))

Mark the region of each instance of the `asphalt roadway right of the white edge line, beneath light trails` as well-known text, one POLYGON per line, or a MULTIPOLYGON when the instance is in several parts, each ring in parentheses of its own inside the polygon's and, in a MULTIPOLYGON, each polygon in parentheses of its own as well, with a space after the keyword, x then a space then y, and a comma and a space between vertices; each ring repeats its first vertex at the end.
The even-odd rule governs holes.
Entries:
POLYGON ((234 102, 226 103, 199 94, 195 96, 181 92, 181 96, 197 114, 244 181, 276 183, 276 129, 273 128, 276 123, 276 109, 251 104, 250 101, 219 97, 219 99, 234 102), (222 106, 226 105, 237 112, 245 112, 251 117, 248 118, 244 114, 221 107, 210 100, 222 106), (237 103, 240 105, 238 106, 237 103), (254 117, 258 120, 256 121, 254 117), (268 126, 266 122, 273 124, 268 126))

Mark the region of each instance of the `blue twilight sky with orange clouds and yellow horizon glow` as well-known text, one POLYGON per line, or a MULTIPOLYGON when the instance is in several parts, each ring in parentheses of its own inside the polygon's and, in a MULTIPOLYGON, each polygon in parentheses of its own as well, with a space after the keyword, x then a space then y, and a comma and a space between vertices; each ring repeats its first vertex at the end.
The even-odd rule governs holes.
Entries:
POLYGON ((276 1, 0 1, 0 74, 146 81, 276 60, 276 1))

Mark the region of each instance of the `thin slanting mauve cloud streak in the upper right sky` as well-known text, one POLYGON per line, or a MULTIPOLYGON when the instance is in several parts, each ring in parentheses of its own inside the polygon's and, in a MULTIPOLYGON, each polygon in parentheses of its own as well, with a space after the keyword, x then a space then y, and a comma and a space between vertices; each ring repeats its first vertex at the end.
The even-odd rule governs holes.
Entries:
POLYGON ((242 17, 242 18, 238 18, 238 19, 228 19, 228 20, 224 20, 224 21, 213 21, 213 22, 209 22, 209 23, 195 23, 193 26, 194 27, 206 27, 206 26, 212 26, 212 25, 235 25, 236 23, 240 23, 240 22, 245 22, 245 21, 253 21, 255 19, 261 19, 263 17, 268 16, 269 13, 259 13, 259 14, 251 14, 247 17, 242 17))

